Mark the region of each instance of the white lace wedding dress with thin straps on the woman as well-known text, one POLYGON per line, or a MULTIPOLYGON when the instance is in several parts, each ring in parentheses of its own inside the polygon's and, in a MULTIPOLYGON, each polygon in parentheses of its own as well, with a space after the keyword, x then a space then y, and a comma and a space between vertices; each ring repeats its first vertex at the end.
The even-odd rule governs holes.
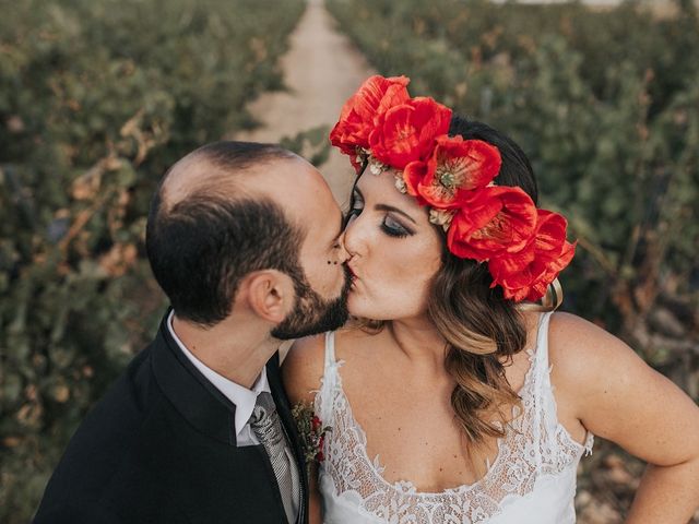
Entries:
POLYGON ((486 475, 472 485, 422 492, 407 480, 388 483, 379 457, 367 454, 335 361, 334 333, 325 335, 325 370, 316 413, 332 426, 319 472, 325 524, 561 524, 576 522, 576 471, 593 438, 572 440, 556 418, 549 380, 548 320, 540 320, 536 347, 519 394, 523 414, 507 428, 486 475))

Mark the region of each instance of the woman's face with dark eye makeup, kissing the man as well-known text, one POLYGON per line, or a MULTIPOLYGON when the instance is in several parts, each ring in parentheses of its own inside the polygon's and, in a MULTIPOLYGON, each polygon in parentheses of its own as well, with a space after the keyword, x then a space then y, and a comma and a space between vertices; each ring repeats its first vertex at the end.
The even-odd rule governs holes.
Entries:
POLYGON ((353 274, 350 314, 396 320, 425 313, 443 240, 427 209, 395 188, 392 170, 362 175, 344 242, 353 274))

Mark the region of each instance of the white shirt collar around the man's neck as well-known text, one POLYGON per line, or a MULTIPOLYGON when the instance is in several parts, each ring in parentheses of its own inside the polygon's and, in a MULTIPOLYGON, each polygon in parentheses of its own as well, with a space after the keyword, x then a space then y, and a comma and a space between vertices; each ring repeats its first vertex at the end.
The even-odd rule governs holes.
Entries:
POLYGON ((223 393, 226 398, 228 398, 236 406, 235 414, 235 424, 236 424, 236 438, 240 434, 240 431, 246 427, 250 416, 252 415, 252 410, 254 409, 254 404, 257 402, 258 395, 262 392, 271 393, 270 383, 266 379, 266 368, 262 368, 260 376, 252 384, 252 389, 248 390, 240 384, 236 384, 234 381, 226 379, 224 376, 218 374, 213 369, 209 368, 204 362, 199 360, 179 340, 177 333, 173 329, 173 317, 175 315, 175 311, 170 311, 170 314, 167 318, 167 329, 173 336, 173 340, 177 343, 177 346, 182 350, 185 356, 192 362, 192 365, 199 370, 201 374, 203 374, 206 380, 209 380, 214 388, 216 388, 221 393, 223 393))

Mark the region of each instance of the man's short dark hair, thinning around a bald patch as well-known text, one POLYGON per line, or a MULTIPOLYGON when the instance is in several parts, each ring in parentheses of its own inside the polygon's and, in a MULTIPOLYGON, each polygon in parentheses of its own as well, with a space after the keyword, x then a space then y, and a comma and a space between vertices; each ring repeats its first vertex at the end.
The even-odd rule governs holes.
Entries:
MULTIPOLYGON (((191 157, 235 177, 292 153, 272 144, 216 142, 191 157)), ((151 203, 145 246, 155 279, 179 318, 204 326, 221 322, 250 272, 303 275, 298 253, 305 233, 271 199, 224 196, 205 188, 167 206, 162 188, 163 182, 151 203)))

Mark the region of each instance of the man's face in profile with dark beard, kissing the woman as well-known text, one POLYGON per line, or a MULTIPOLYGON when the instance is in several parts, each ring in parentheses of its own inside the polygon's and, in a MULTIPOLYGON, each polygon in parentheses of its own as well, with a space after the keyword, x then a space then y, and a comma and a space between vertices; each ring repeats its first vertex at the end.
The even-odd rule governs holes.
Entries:
MULTIPOLYGON (((342 212, 320 172, 301 159, 284 163, 273 198, 306 236, 299 250, 299 274, 294 281, 296 303, 272 335, 298 338, 340 327, 347 320, 347 255, 342 243, 342 212), (303 171, 303 172, 300 172, 303 171)), ((275 177, 276 178, 276 177, 275 177)))

